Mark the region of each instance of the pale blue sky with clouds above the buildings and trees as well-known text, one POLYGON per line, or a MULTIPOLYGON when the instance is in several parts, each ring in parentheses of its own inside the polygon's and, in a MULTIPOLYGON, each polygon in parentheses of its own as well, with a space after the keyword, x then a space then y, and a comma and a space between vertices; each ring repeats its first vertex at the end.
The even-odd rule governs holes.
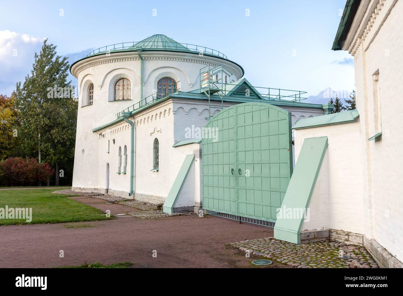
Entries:
POLYGON ((352 56, 331 50, 345 2, 0 1, 0 93, 10 95, 29 73, 44 38, 74 62, 104 45, 164 34, 223 52, 255 86, 326 101, 318 97, 326 88, 354 89, 352 56))

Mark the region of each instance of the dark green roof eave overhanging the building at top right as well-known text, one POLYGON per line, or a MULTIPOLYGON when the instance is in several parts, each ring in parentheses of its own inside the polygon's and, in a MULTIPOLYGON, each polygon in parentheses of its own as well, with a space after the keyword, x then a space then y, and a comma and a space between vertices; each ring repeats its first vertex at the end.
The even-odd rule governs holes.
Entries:
POLYGON ((344 7, 343 15, 341 16, 339 28, 337 29, 336 37, 334 37, 332 50, 342 50, 347 34, 349 33, 355 13, 361 0, 347 0, 344 7))

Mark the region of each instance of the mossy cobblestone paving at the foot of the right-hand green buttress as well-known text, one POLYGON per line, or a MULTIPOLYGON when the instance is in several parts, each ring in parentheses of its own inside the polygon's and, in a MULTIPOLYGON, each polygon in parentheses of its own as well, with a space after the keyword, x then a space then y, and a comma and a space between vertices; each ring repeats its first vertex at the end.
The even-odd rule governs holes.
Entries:
POLYGON ((365 247, 345 243, 320 241, 295 245, 268 237, 228 245, 297 268, 378 268, 365 247))

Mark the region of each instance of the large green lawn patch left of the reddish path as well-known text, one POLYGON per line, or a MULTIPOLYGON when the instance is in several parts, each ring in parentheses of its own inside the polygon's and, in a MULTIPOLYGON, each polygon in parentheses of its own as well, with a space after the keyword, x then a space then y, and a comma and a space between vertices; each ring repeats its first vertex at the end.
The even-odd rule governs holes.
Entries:
MULTIPOLYGON (((109 220, 102 216, 101 210, 92 208, 83 203, 67 198, 66 195, 52 193, 55 189, 21 189, 0 190, 0 214, 1 208, 32 208, 32 221, 24 219, 4 219, 0 217, 0 226, 11 224, 35 224, 35 223, 61 223, 109 220)), ((3 210, 4 212, 4 210, 3 210)))

